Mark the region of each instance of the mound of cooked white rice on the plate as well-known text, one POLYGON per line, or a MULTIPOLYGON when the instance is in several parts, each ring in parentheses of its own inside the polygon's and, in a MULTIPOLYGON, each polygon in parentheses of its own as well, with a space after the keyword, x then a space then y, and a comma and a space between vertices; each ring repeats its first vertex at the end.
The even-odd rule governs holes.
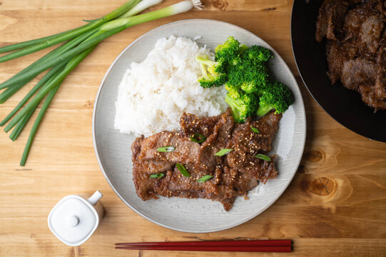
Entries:
POLYGON ((150 136, 175 131, 183 112, 215 116, 226 109, 223 86, 203 89, 195 56, 207 54, 191 39, 158 39, 147 58, 132 63, 118 88, 114 126, 121 133, 150 136))

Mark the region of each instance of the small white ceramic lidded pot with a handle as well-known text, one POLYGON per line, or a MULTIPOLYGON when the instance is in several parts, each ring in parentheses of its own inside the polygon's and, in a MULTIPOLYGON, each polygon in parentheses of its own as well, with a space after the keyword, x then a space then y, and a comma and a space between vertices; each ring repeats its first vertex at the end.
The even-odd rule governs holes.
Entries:
POLYGON ((66 196, 49 213, 49 228, 68 246, 80 246, 98 228, 104 209, 99 201, 102 193, 96 191, 90 198, 66 196))

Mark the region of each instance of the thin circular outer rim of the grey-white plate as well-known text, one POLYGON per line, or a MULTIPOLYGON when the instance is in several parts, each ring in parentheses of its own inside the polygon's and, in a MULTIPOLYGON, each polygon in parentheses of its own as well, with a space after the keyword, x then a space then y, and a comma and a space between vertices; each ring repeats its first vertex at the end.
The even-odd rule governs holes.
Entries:
POLYGON ((280 198, 280 196, 283 195, 284 191, 288 188, 288 186, 290 185, 290 183, 293 181, 293 177, 295 176, 295 173, 296 171, 298 170, 298 167, 300 165, 300 161, 302 159, 301 156, 303 156, 303 153, 304 153, 304 149, 305 149, 305 141, 306 141, 306 136, 307 136, 307 117, 305 115, 305 106, 304 106, 304 101, 303 101, 303 96, 302 96, 302 92, 300 91, 300 88, 299 88, 299 85, 298 85, 298 82, 296 81, 295 79, 295 76, 293 75, 293 72, 290 70, 290 68, 288 67, 288 65, 285 63, 284 59, 278 54, 277 51, 275 51, 275 49, 273 49, 271 47, 271 50, 274 52, 274 54, 276 56, 278 56, 278 58, 280 59, 280 61, 283 61, 283 64, 285 66, 285 69, 289 72, 290 74, 290 77, 291 79, 293 79, 293 81, 295 82, 295 85, 298 87, 298 91, 299 91, 299 101, 300 101, 300 105, 303 106, 303 109, 302 109, 302 114, 304 116, 304 122, 303 122, 303 131, 304 131, 304 137, 303 137, 303 142, 301 143, 301 155, 300 155, 300 158, 298 160, 298 163, 296 163, 296 166, 294 168, 294 172, 292 174, 292 176, 290 177, 290 182, 280 191, 280 193, 278 193, 277 196, 275 196, 274 200, 268 204, 267 206, 265 206, 265 208, 262 208, 258 213, 254 213, 253 215, 251 216, 248 216, 247 218, 243 218, 242 220, 236 222, 236 223, 232 223, 228 226, 224 226, 223 228, 218 228, 218 229, 208 229, 206 231, 192 231, 192 230, 189 230, 189 229, 182 229, 182 228, 173 228, 172 226, 168 226, 168 225, 165 225, 163 223, 160 223, 158 221, 154 221, 152 218, 149 218, 147 217, 145 214, 141 213, 140 211, 136 210, 136 208, 134 208, 133 206, 131 206, 130 203, 128 203, 124 198, 123 196, 121 196, 120 193, 118 193, 118 191, 116 190, 116 188, 113 186, 113 184, 111 183, 110 179, 108 178, 107 174, 106 174, 106 171, 105 169, 103 168, 103 164, 101 163, 101 158, 99 157, 99 151, 98 151, 98 148, 96 146, 96 109, 98 107, 98 99, 99 99, 99 96, 101 94, 101 90, 103 88, 103 84, 105 83, 106 81, 106 78, 107 76, 110 74, 111 72, 111 69, 113 69, 113 66, 116 64, 116 62, 118 61, 118 59, 121 58, 121 56, 126 52, 126 50, 128 48, 130 48, 133 44, 136 44, 137 41, 140 41, 141 39, 143 39, 143 37, 147 36, 148 34, 151 34, 153 33, 154 31, 158 30, 158 29, 161 29, 163 28, 164 26, 173 26, 174 24, 178 24, 178 23, 184 23, 184 22, 194 22, 194 21, 207 21, 207 22, 214 22, 214 23, 220 23, 220 24, 225 24, 227 26, 233 26, 235 27, 236 29, 240 29, 242 31, 245 31, 247 34, 250 34, 250 36, 254 37, 254 38, 257 38, 261 41, 263 41, 263 43, 267 44, 268 46, 270 46, 270 44, 266 43, 263 39, 260 39, 259 36, 256 36, 255 34, 253 34, 252 32, 248 31, 247 29, 243 29, 241 28, 240 26, 236 26, 234 24, 230 24, 228 22, 225 22, 225 21, 218 21, 218 20, 213 20, 213 19, 183 19, 183 20, 179 20, 179 21, 173 21, 173 22, 170 22, 168 24, 163 24, 161 26, 157 26, 156 28, 154 29, 151 29, 150 31, 146 32, 145 34, 142 34, 141 36, 139 36, 136 40, 134 40, 133 42, 131 42, 131 44, 129 44, 128 46, 125 47, 125 49, 123 49, 121 51, 120 54, 118 54, 118 56, 116 57, 116 59, 114 59, 114 61, 111 63, 111 65, 108 67, 108 70, 106 71, 106 74, 103 76, 103 79, 101 81, 101 84, 99 84, 99 87, 98 87, 98 92, 96 94, 96 99, 94 101, 94 106, 93 106, 93 118, 92 118, 92 133, 93 133, 93 148, 94 148, 94 151, 95 151, 95 154, 96 154, 96 158, 97 158, 97 161, 98 161, 98 164, 99 164, 99 167, 101 168, 101 171, 103 173, 103 176, 105 177, 106 181, 108 182, 108 184, 110 185, 110 187, 113 189, 113 191, 116 193, 116 195, 121 199, 121 201, 123 201, 123 203, 126 204, 126 206, 128 206, 129 208, 131 208, 132 211, 136 212, 138 215, 142 216, 143 218, 146 218, 146 220, 148 221, 151 221, 152 223, 155 223, 157 224, 158 226, 162 226, 164 228, 169 228, 169 229, 172 229, 174 231, 180 231, 180 232, 186 232, 186 233, 212 233, 212 232, 217 232, 217 231, 224 231, 226 229, 229 229, 229 228, 234 228, 235 226, 239 226, 247 221, 250 221, 251 219, 255 218, 256 216, 260 215, 260 213, 263 213, 263 211, 265 211, 267 208, 269 208, 270 206, 273 205, 273 203, 275 203, 275 201, 278 200, 278 198, 280 198))

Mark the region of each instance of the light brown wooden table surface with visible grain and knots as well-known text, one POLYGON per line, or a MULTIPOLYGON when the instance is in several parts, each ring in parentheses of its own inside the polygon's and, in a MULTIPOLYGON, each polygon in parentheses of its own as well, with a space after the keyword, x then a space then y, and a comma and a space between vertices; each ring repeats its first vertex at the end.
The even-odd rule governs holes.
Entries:
MULTIPOLYGON (((0 0, 0 46, 75 28, 83 24, 82 19, 103 16, 124 1, 0 0)), ((161 6, 175 2, 165 0, 161 6)), ((203 11, 132 27, 96 47, 56 94, 36 133, 26 166, 19 166, 19 161, 31 124, 15 142, 0 131, 0 256, 386 256, 386 143, 370 141, 345 129, 308 94, 291 51, 293 1, 205 0, 203 3, 203 11), (116 56, 138 36, 157 26, 193 18, 227 21, 248 29, 273 46, 298 79, 307 114, 303 159, 288 189, 258 217, 216 233, 172 231, 131 211, 103 177, 91 135, 96 92, 116 56), (106 216, 82 246, 64 245, 49 231, 49 211, 68 194, 91 194, 96 189, 104 195, 101 201, 106 216), (225 238, 290 238, 293 253, 113 248, 116 242, 225 238)), ((0 82, 47 51, 0 64, 0 82)), ((0 119, 36 81, 0 106, 0 119)))

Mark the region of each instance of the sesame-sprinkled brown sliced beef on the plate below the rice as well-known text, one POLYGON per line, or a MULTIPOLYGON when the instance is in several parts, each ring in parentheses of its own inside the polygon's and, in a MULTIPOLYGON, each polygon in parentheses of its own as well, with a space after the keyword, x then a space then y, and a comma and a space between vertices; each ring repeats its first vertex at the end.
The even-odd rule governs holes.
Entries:
POLYGON ((229 211, 237 196, 245 196, 258 185, 258 181, 265 183, 268 178, 277 176, 274 161, 262 161, 254 154, 270 151, 280 118, 281 115, 271 113, 260 121, 235 124, 230 109, 223 115, 202 119, 193 114, 183 114, 181 131, 163 131, 148 138, 136 138, 131 149, 133 181, 138 196, 144 201, 158 196, 208 198, 220 201, 229 211), (250 126, 255 126, 260 133, 250 133, 250 126), (201 144, 191 141, 189 138, 194 133, 205 135, 206 140, 201 144), (243 133, 251 138, 241 140, 243 133), (175 150, 158 152, 157 148, 163 146, 173 146, 175 150), (248 154, 248 163, 235 163, 228 161, 227 156, 215 156, 222 148, 234 149, 228 156, 238 151, 248 154), (176 163, 182 164, 191 177, 183 176, 176 163), (164 176, 150 178, 153 173, 163 173, 164 176), (205 175, 213 178, 198 183, 198 178, 205 175))

